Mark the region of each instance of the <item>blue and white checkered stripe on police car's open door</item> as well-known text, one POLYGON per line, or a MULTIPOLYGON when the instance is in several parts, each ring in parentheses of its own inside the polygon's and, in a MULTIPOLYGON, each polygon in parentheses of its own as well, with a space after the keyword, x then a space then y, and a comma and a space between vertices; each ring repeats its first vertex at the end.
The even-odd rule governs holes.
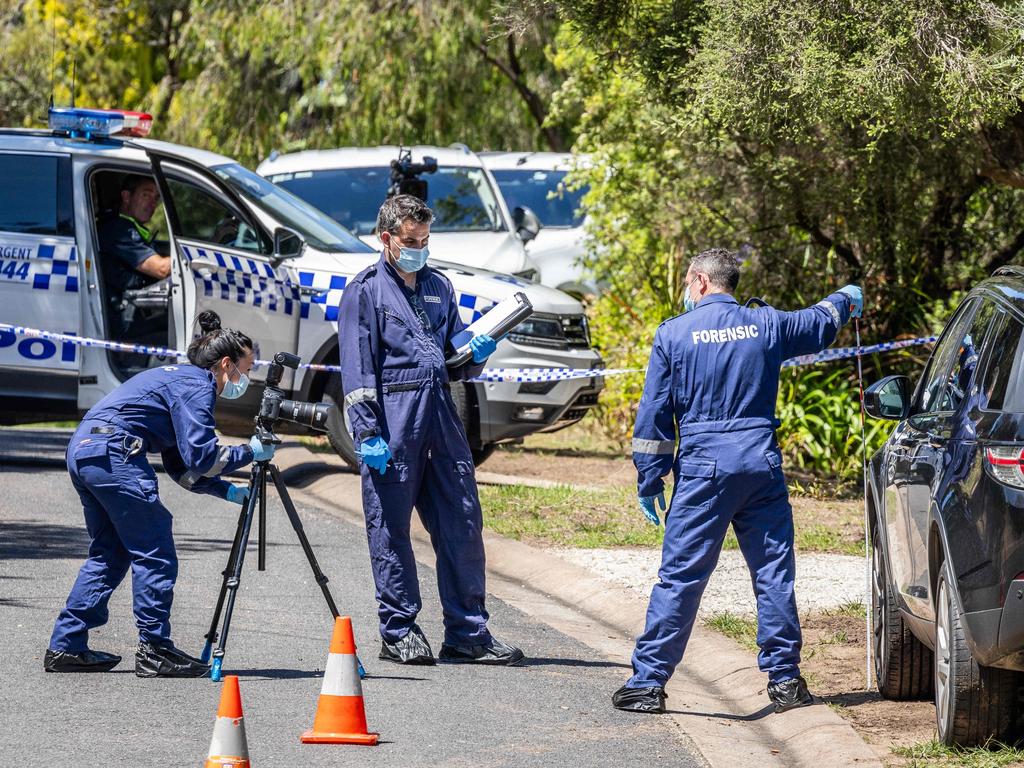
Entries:
POLYGON ((216 262, 217 269, 195 272, 205 296, 283 314, 294 314, 299 305, 299 287, 281 280, 265 261, 198 246, 181 245, 181 252, 189 262, 216 262))

